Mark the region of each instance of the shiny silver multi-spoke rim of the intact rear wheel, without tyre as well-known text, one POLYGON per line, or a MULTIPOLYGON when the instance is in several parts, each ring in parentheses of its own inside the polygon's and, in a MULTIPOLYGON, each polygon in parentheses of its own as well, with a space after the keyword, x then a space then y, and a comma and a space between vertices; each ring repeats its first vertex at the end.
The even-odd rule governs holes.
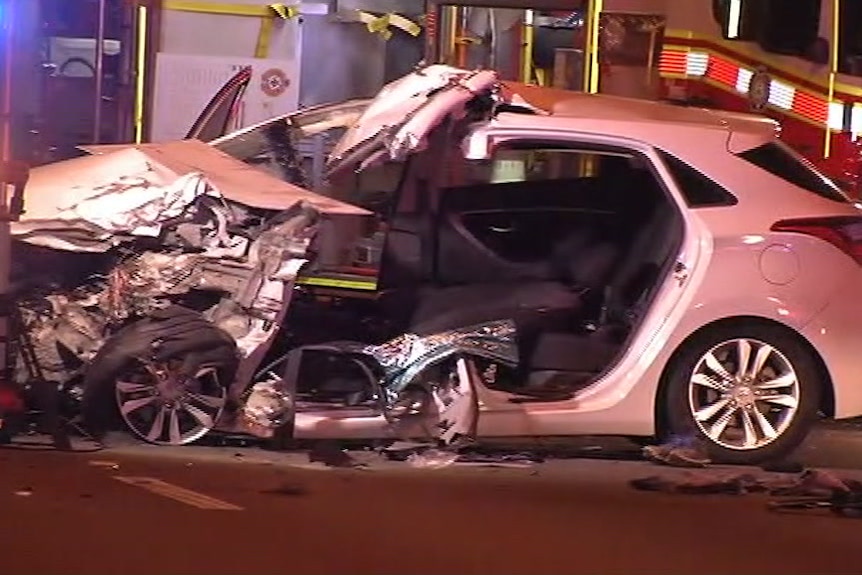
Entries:
POLYGON ((688 404, 698 429, 734 451, 761 449, 797 417, 799 378, 781 351, 751 338, 727 340, 697 362, 688 404))

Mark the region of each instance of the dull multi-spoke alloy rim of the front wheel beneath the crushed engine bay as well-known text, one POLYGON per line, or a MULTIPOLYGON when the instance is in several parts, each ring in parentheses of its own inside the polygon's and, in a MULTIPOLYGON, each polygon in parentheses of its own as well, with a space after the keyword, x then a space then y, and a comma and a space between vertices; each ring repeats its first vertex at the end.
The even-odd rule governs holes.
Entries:
POLYGON ((156 445, 186 445, 209 433, 227 400, 215 367, 193 377, 179 373, 182 359, 136 360, 115 384, 117 408, 129 430, 156 445))

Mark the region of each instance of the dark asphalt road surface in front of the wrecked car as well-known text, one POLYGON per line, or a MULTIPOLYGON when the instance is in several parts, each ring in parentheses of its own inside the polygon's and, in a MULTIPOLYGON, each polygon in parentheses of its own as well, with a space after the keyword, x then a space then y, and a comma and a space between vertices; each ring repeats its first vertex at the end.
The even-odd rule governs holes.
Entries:
MULTIPOLYGON (((862 572, 862 519, 636 491, 631 479, 686 472, 580 447, 616 455, 419 469, 362 452, 367 467, 341 469, 233 446, 35 441, 0 450, 0 574, 862 572)), ((821 430, 800 459, 862 477, 862 432, 821 430)))

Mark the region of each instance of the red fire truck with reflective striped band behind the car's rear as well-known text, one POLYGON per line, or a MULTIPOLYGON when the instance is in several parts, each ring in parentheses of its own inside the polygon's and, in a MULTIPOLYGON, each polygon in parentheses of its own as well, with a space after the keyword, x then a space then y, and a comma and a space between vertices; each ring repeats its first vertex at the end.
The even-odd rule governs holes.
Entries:
POLYGON ((773 117, 788 143, 862 191, 862 3, 673 4, 660 59, 667 97, 773 117))

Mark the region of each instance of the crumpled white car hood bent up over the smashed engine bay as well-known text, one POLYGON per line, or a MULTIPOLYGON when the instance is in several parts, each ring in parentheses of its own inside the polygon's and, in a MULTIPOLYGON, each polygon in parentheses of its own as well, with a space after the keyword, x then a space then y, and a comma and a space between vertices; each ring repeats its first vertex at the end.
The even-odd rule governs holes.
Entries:
POLYGON ((104 251, 124 236, 156 237, 198 198, 283 211, 306 203, 322 214, 364 215, 280 180, 197 140, 144 144, 31 171, 13 237, 71 251, 104 251))

